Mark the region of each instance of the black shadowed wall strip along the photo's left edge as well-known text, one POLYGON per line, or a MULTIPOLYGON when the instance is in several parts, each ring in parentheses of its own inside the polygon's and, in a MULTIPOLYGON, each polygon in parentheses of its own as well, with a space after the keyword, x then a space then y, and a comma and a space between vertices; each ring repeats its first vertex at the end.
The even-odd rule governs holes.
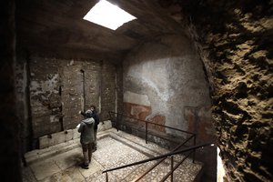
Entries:
POLYGON ((15 112, 15 1, 2 1, 0 11, 0 174, 1 181, 20 182, 22 123, 15 112))

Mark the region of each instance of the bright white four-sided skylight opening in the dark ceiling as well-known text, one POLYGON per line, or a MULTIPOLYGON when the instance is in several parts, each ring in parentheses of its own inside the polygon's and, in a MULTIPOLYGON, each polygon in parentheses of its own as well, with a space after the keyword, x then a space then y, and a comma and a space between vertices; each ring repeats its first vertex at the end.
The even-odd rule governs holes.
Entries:
POLYGON ((136 17, 106 0, 101 0, 90 9, 84 19, 116 30, 119 26, 136 19, 136 17))

